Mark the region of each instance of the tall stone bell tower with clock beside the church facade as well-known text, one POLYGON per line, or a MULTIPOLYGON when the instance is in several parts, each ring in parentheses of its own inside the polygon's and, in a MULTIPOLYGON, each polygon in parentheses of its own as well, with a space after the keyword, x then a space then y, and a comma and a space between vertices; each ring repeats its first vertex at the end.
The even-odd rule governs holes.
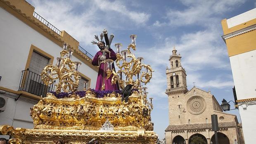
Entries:
POLYGON ((170 68, 166 67, 167 89, 169 104, 169 124, 180 124, 182 110, 185 107, 183 104, 184 94, 187 90, 186 71, 181 66, 181 55, 177 54, 175 46, 173 46, 172 55, 169 58, 170 68))

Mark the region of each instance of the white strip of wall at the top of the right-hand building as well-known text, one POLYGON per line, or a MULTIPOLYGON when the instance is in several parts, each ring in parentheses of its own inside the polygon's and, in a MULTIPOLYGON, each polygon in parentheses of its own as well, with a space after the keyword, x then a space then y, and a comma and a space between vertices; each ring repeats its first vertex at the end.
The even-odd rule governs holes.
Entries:
POLYGON ((251 9, 247 12, 242 13, 242 14, 239 14, 235 17, 230 18, 230 19, 227 19, 228 28, 231 28, 233 26, 237 26, 239 24, 250 21, 252 19, 256 19, 256 8, 251 9))

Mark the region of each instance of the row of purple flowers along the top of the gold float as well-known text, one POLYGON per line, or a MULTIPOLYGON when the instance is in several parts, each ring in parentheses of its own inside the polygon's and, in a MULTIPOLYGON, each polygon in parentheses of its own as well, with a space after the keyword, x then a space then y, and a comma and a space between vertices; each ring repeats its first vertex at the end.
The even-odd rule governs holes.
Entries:
MULTIPOLYGON (((94 89, 90 89, 90 90, 95 93, 97 98, 102 98, 107 94, 111 94, 112 92, 114 92, 116 94, 119 94, 121 92, 121 90, 114 90, 114 91, 112 91, 112 90, 94 90, 94 89)), ((132 89, 131 94, 136 91, 139 92, 139 90, 136 88, 132 89)), ((68 97, 69 94, 72 94, 71 92, 69 92, 69 93, 68 92, 60 92, 59 94, 57 94, 56 92, 53 92, 53 91, 50 91, 50 93, 54 94, 55 97, 57 97, 58 99, 68 97)), ((76 91, 75 94, 78 94, 79 97, 85 97, 86 91, 76 91)))

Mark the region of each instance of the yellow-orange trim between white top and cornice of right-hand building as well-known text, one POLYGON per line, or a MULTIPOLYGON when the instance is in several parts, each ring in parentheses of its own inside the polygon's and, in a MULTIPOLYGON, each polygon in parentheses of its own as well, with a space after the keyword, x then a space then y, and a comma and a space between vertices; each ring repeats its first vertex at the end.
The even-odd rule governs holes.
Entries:
POLYGON ((223 28, 224 35, 227 35, 229 33, 235 32, 235 31, 239 31, 240 29, 246 28, 246 27, 254 25, 254 24, 256 24, 256 19, 252 19, 250 21, 244 22, 244 23, 239 24, 237 26, 233 26, 231 28, 228 28, 227 19, 223 19, 221 21, 221 25, 222 25, 222 28, 223 28))

